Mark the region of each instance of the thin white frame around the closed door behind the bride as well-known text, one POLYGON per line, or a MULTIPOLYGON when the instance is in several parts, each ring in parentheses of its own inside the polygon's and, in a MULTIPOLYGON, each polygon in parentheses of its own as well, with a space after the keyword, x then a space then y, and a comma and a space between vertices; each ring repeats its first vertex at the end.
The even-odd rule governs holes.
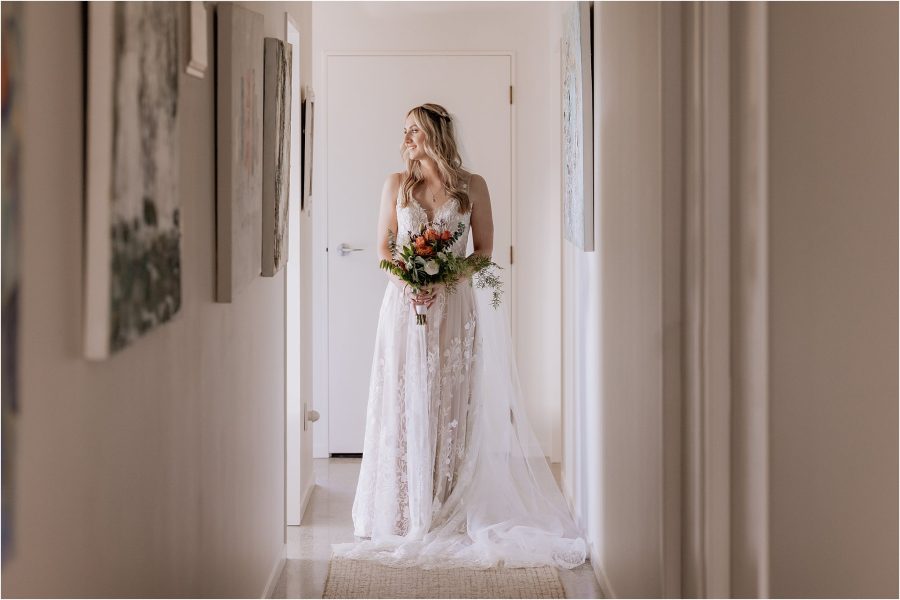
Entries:
MULTIPOLYGON (((314 82, 318 88, 313 130, 313 184, 312 184, 312 388, 313 407, 319 413, 319 421, 313 428, 313 458, 328 458, 329 428, 329 389, 328 389, 328 211, 325 201, 328 197, 327 154, 325 152, 326 123, 328 122, 328 59, 332 56, 506 56, 509 58, 509 82, 516 85, 516 55, 512 50, 473 50, 473 51, 416 51, 416 50, 377 50, 377 51, 337 51, 322 52, 320 59, 321 81, 314 82)), ((513 199, 516 197, 516 103, 510 103, 510 244, 515 248, 517 211, 513 199)), ((516 289, 516 263, 509 268, 508 289, 516 289)), ((510 294, 510 330, 515 339, 516 294, 510 294)))

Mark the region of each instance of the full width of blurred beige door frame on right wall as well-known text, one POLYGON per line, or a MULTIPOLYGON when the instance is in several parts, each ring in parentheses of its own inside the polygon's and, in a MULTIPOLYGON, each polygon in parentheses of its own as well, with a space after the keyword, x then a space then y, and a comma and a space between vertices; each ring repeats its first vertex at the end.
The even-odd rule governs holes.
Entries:
POLYGON ((767 7, 690 2, 681 597, 767 597, 767 7))

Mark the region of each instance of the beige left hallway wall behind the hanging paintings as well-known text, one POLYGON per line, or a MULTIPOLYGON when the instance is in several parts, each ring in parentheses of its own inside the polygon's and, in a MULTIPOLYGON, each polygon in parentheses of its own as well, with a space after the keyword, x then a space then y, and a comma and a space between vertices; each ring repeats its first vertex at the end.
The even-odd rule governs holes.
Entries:
MULTIPOLYGON (((283 8, 254 10, 283 35, 283 8)), ((295 10, 307 33, 308 7, 295 10)), ((81 358, 81 16, 80 4, 25 8, 21 415, 3 594, 259 596, 283 552, 283 274, 213 302, 214 65, 203 80, 182 74, 181 310, 107 361, 81 358)), ((208 25, 212 48, 212 11, 208 25)))

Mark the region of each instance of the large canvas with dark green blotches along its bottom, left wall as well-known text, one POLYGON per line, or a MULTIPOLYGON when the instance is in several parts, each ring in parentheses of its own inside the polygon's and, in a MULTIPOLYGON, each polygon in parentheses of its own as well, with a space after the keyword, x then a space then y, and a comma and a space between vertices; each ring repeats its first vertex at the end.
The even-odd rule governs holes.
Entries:
POLYGON ((88 5, 85 355, 102 360, 181 306, 178 13, 88 5))

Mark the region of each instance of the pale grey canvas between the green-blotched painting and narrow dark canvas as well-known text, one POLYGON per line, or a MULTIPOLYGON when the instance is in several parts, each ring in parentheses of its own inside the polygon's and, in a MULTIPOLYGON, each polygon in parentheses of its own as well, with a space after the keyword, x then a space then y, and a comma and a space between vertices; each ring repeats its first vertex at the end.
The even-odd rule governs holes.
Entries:
POLYGON ((261 273, 263 17, 216 10, 216 301, 231 302, 261 273))

